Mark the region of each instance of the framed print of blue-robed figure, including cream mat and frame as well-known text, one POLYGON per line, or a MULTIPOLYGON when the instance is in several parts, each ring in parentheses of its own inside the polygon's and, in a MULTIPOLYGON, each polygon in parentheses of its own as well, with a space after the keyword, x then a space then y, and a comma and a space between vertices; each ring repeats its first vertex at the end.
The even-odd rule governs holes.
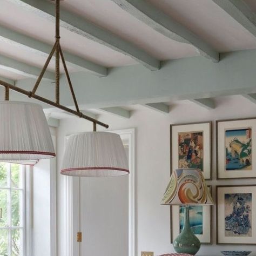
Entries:
POLYGON ((217 244, 256 244, 256 185, 217 186, 217 244))

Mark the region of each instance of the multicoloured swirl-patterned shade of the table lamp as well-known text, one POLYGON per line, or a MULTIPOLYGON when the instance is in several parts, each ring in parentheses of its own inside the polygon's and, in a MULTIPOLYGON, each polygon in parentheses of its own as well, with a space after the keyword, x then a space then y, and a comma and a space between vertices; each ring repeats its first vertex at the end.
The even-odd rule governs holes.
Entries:
POLYGON ((203 173, 198 169, 177 169, 172 172, 162 205, 213 205, 203 173))

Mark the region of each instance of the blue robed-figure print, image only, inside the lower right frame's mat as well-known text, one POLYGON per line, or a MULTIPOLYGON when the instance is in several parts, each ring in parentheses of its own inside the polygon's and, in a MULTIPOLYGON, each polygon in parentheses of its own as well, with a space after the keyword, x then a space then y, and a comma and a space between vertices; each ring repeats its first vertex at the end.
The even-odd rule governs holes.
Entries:
POLYGON ((225 237, 252 236, 252 193, 225 194, 225 237))

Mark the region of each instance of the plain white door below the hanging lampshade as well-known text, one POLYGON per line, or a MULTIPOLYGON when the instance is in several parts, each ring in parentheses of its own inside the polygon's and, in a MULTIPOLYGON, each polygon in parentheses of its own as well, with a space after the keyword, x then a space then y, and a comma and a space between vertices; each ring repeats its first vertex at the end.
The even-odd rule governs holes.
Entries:
POLYGON ((129 176, 80 180, 80 256, 128 256, 129 176))

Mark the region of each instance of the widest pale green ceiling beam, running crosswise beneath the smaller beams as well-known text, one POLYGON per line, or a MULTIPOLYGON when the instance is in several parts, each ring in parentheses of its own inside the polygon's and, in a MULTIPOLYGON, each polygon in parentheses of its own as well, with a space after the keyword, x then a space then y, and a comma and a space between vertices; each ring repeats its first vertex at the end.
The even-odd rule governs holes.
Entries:
MULTIPOLYGON (((149 72, 142 65, 123 66, 111 69, 110 76, 100 79, 86 72, 76 72, 71 73, 71 79, 81 109, 256 92, 256 49, 221 53, 220 58, 218 64, 201 56, 175 59, 164 62, 157 72, 149 72)), ((60 101, 72 106, 66 78, 60 78, 60 83, 60 101)), ((33 84, 19 80, 16 86, 31 90, 33 84)), ((48 86, 40 90, 42 96, 52 97, 48 86)))

